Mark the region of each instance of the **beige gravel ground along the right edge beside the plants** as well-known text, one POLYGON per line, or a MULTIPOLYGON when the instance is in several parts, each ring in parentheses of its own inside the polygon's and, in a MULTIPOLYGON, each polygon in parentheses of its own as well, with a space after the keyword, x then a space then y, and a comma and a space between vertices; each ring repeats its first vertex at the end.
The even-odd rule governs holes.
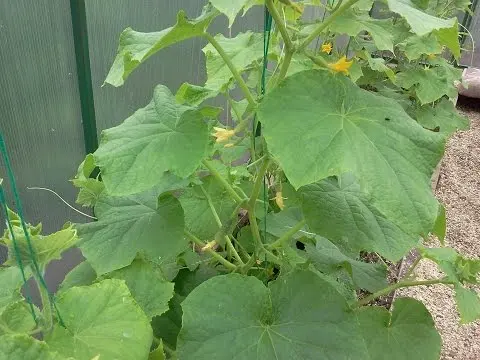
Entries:
MULTIPOLYGON (((480 257, 480 99, 459 100, 458 108, 471 121, 468 131, 449 140, 436 189, 447 210, 447 244, 467 257, 480 257)), ((438 246, 432 241, 432 246, 438 246)), ((436 265, 422 261, 419 279, 440 275, 436 265)), ((480 287, 476 288, 480 291, 480 287)), ((442 360, 480 360, 480 321, 460 325, 453 291, 435 285, 404 289, 396 296, 424 301, 443 339, 442 360)), ((412 359, 414 360, 414 359, 412 359)))

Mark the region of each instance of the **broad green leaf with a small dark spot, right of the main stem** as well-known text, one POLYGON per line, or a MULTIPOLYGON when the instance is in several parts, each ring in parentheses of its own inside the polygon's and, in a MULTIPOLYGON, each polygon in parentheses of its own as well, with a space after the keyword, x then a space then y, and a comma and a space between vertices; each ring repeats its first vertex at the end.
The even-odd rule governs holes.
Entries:
POLYGON ((430 176, 444 139, 397 102, 312 70, 267 94, 258 117, 270 152, 295 188, 351 172, 370 206, 403 232, 431 230, 438 204, 430 176))

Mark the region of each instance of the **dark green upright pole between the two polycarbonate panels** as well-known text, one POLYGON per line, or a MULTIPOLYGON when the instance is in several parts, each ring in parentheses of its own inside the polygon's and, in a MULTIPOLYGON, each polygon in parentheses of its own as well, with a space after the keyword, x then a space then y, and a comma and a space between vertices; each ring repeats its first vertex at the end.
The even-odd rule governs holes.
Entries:
POLYGON ((92 72, 88 51, 87 16, 85 0, 70 0, 72 14, 73 42, 77 63, 78 90, 82 110, 83 136, 87 154, 98 147, 95 104, 93 101, 92 72))

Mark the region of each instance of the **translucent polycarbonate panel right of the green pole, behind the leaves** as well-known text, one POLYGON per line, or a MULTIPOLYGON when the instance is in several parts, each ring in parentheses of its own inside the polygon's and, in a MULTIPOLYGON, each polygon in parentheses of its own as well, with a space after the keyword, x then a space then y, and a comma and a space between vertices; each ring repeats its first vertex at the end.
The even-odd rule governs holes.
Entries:
MULTIPOLYGON (((101 87, 113 63, 120 33, 126 27, 137 31, 159 31, 172 26, 178 10, 197 17, 206 1, 202 0, 86 0, 90 62, 97 116, 97 129, 118 125, 135 110, 145 106, 158 84, 175 93, 185 81, 203 85, 205 60, 203 39, 187 40, 152 56, 137 68, 122 87, 101 87)), ((217 18, 211 32, 228 35, 226 18, 217 18)), ((263 9, 251 10, 232 29, 263 31, 263 9)))

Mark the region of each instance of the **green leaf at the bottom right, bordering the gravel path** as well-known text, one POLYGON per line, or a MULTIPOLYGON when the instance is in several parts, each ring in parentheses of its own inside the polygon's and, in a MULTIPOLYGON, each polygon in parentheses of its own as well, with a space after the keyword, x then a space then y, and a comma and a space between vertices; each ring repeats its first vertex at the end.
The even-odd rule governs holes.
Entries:
POLYGON ((384 307, 364 307, 358 312, 358 322, 368 360, 439 359, 442 339, 418 300, 397 299, 392 314, 384 307))

